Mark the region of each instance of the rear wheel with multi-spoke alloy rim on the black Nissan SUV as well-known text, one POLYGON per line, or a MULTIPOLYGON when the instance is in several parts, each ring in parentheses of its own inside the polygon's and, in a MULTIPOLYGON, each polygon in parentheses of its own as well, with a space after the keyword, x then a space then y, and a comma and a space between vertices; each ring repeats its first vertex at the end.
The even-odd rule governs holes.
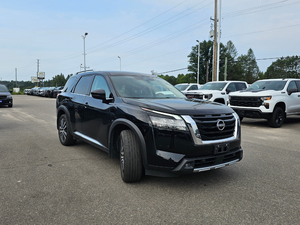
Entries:
POLYGON ((70 132, 70 125, 65 114, 61 115, 58 124, 58 137, 60 143, 64 146, 73 145, 77 140, 73 139, 70 132))

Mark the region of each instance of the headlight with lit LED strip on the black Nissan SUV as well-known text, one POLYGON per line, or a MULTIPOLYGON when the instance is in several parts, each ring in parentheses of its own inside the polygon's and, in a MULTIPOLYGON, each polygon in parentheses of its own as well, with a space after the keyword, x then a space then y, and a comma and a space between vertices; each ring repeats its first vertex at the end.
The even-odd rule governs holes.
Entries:
POLYGON ((155 110, 149 110, 149 109, 146 109, 143 107, 141 107, 141 109, 146 110, 148 112, 162 114, 162 115, 166 115, 166 116, 170 116, 170 117, 174 118, 174 119, 169 119, 169 118, 163 118, 163 117, 159 117, 159 116, 149 115, 152 125, 155 127, 173 129, 173 130, 179 130, 179 131, 187 131, 187 126, 185 125, 184 120, 178 115, 162 113, 162 112, 158 112, 155 110))

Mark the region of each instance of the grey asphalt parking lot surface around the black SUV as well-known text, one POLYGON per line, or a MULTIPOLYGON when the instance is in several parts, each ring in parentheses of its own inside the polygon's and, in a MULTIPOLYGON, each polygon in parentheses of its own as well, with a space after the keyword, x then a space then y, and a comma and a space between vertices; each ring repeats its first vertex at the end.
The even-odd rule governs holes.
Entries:
POLYGON ((0 224, 300 224, 300 116, 245 118, 234 165, 124 183, 118 158, 61 145, 55 101, 0 106, 0 224))

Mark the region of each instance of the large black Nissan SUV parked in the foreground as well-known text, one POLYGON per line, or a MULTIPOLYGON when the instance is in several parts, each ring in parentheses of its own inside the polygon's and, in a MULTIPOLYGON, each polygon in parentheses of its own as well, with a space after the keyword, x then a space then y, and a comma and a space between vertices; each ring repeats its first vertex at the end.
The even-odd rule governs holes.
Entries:
POLYGON ((56 99, 61 144, 83 140, 120 158, 121 177, 179 176, 240 161, 241 127, 228 106, 189 99, 157 76, 97 71, 70 77, 56 99))

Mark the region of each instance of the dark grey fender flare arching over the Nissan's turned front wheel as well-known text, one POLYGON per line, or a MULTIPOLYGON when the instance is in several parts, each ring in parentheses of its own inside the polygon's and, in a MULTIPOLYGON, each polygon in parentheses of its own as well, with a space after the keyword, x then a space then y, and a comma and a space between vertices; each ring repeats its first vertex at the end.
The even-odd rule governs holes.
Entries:
POLYGON ((116 119, 110 126, 109 135, 108 135, 108 155, 109 155, 109 157, 110 158, 116 157, 114 154, 114 149, 113 149, 113 143, 112 143, 113 135, 112 134, 113 134, 113 131, 114 131, 114 128, 116 127, 116 125, 119 125, 119 124, 128 126, 134 132, 135 136, 137 137, 137 140, 140 143, 144 167, 146 169, 149 169, 148 162, 147 162, 146 143, 145 143, 143 134, 140 131, 140 129, 137 127, 137 125, 135 125, 133 122, 131 122, 130 120, 127 120, 127 119, 122 119, 122 118, 116 119))

